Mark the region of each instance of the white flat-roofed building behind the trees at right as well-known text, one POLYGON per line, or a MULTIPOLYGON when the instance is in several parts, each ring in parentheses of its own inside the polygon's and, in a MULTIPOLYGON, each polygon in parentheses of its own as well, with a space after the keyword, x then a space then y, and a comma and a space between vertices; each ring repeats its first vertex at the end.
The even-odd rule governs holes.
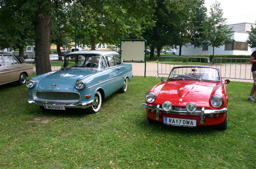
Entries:
MULTIPOLYGON (((231 36, 233 41, 219 48, 215 47, 214 55, 251 55, 255 48, 250 48, 246 43, 249 36, 248 32, 251 32, 251 25, 255 27, 255 24, 246 22, 228 25, 228 28, 233 27, 231 36)), ((207 42, 203 42, 203 46, 200 48, 195 48, 194 45, 182 46, 181 55, 212 55, 212 47, 206 44, 207 42)))

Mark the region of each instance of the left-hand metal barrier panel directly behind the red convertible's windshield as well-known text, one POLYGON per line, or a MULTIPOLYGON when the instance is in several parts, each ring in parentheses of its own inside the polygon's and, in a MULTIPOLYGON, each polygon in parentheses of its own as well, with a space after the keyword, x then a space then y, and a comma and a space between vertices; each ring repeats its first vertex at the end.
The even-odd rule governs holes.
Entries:
POLYGON ((210 66, 210 64, 210 59, 206 57, 160 56, 157 59, 157 77, 159 74, 170 74, 172 67, 175 66, 210 66))

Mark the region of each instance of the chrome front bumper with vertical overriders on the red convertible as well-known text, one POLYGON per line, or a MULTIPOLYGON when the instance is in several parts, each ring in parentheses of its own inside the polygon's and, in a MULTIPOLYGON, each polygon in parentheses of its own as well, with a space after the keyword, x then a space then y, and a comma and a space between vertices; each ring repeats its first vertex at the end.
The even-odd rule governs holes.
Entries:
MULTIPOLYGON (((157 104, 156 106, 154 105, 149 105, 149 104, 146 104, 146 103, 142 103, 142 106, 146 107, 146 108, 149 108, 149 109, 154 109, 156 110, 156 120, 159 121, 159 110, 164 110, 162 108, 159 108, 160 105, 157 104)), ((227 112, 228 109, 227 108, 223 108, 223 109, 219 109, 219 110, 213 110, 213 109, 205 109, 204 107, 202 107, 201 109, 201 115, 200 115, 200 123, 201 124, 204 124, 204 116, 208 115, 208 114, 219 114, 219 113, 224 113, 224 112, 227 112)), ((169 111, 170 113, 182 113, 180 111, 176 111, 176 110, 170 110, 169 111)), ((193 115, 193 113, 192 113, 193 115)))

